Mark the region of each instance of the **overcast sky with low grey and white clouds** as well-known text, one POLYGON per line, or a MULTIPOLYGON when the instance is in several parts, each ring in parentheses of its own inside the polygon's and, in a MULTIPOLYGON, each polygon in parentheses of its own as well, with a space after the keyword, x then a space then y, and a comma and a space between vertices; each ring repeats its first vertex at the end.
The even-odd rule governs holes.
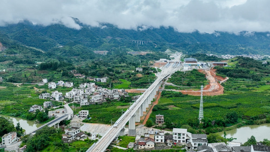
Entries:
POLYGON ((91 26, 112 23, 125 29, 270 31, 269 6, 270 0, 1 0, 0 25, 28 19, 79 29, 72 16, 91 26))

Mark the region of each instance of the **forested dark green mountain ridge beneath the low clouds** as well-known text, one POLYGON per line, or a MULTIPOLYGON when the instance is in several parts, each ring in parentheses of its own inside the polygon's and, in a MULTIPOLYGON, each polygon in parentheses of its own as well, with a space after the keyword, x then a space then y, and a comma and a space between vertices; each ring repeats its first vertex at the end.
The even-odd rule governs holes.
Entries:
MULTIPOLYGON (((79 23, 78 20, 76 22, 79 23)), ((173 27, 148 28, 146 30, 119 29, 111 24, 102 27, 91 27, 79 23, 80 30, 68 28, 61 24, 49 26, 33 25, 23 21, 0 27, 0 35, 16 43, 32 46, 45 52, 68 52, 76 50, 114 50, 124 51, 162 51, 168 47, 188 53, 211 54, 270 54, 269 32, 247 32, 238 34, 215 32, 213 34, 179 33, 173 27), (135 43, 130 40, 152 41, 151 43, 135 43), (173 45, 170 43, 174 43, 173 45), (69 46, 58 48, 59 46, 69 46), (74 48, 74 46, 76 46, 74 48)), ((1 42, 1 39, 0 39, 1 42)), ((3 43, 3 42, 1 42, 3 43)), ((5 46, 5 43, 3 43, 5 46)), ((85 53, 82 53, 85 54, 85 53)))

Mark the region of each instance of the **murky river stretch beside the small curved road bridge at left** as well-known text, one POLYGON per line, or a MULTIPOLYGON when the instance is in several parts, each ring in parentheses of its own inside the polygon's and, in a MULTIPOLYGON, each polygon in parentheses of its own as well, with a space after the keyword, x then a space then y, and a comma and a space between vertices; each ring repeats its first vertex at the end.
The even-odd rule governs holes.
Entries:
POLYGON ((17 126, 17 123, 19 122, 22 129, 26 130, 26 133, 29 133, 30 131, 35 130, 36 128, 42 125, 39 123, 35 123, 34 121, 29 121, 22 118, 11 117, 11 116, 6 116, 6 115, 0 115, 0 116, 5 117, 5 118, 11 118, 15 127, 17 126))

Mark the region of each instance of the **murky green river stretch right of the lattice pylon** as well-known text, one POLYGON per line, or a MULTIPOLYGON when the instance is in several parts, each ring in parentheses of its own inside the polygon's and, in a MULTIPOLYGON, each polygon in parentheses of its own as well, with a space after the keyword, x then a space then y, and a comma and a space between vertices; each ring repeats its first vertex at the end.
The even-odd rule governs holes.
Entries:
MULTIPOLYGON (((223 132, 219 132, 220 136, 223 136, 223 132)), ((250 138, 252 135, 255 137, 256 141, 262 141, 263 139, 270 140, 270 124, 261 124, 261 125, 247 125, 233 130, 226 131, 226 138, 237 138, 232 142, 247 142, 247 138, 250 138)))

